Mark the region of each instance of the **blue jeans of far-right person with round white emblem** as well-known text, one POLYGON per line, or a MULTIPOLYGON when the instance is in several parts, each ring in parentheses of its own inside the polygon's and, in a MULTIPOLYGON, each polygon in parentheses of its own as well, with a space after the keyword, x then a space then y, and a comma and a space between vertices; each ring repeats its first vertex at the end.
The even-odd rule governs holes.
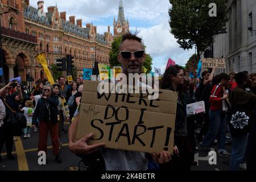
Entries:
POLYGON ((232 154, 230 157, 229 169, 236 171, 239 164, 244 162, 248 134, 232 136, 232 154))

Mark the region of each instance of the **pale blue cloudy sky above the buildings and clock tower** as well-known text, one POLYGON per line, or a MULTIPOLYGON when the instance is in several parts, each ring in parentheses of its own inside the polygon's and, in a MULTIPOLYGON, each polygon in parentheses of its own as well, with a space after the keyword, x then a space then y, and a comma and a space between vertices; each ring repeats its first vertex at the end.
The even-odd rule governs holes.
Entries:
MULTIPOLYGON (((168 57, 177 64, 185 65, 195 49, 184 51, 177 44, 176 39, 170 33, 168 23, 168 0, 122 0, 125 18, 129 18, 130 30, 139 32, 146 45, 146 52, 153 58, 153 67, 160 68, 164 72, 168 57)), ((31 0, 30 5, 37 7, 36 0, 31 0)), ((55 6, 59 11, 67 12, 67 19, 75 15, 76 19, 82 19, 82 24, 92 23, 97 26, 99 33, 110 31, 113 34, 113 20, 117 19, 119 0, 44 0, 44 9, 55 6)), ((154 70, 154 69, 153 69, 154 70)))

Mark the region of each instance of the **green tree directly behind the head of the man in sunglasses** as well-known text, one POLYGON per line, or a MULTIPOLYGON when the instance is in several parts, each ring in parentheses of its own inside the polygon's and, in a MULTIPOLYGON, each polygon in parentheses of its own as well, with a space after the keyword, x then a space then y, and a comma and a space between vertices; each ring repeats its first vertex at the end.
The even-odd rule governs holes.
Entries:
MULTIPOLYGON (((112 49, 109 52, 109 63, 110 67, 117 67, 121 66, 121 63, 118 61, 118 53, 119 53, 119 46, 122 42, 122 36, 119 36, 118 38, 115 38, 112 43, 112 49)), ((144 46, 146 49, 146 46, 144 46)), ((151 65, 152 65, 152 57, 146 53, 146 59, 144 61, 143 66, 148 69, 148 72, 151 71, 151 65)))

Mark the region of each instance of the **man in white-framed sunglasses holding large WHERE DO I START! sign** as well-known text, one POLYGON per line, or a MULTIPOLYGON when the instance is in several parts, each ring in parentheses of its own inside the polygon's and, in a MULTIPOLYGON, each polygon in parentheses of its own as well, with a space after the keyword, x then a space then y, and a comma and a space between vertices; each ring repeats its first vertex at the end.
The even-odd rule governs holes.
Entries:
MULTIPOLYGON (((123 73, 142 73, 146 57, 142 39, 124 35, 119 50, 123 73)), ((80 114, 69 127, 71 151, 91 154, 101 147, 106 170, 146 170, 146 152, 156 163, 171 160, 175 93, 160 90, 158 100, 147 100, 148 94, 99 94, 97 85, 85 82, 80 114)))

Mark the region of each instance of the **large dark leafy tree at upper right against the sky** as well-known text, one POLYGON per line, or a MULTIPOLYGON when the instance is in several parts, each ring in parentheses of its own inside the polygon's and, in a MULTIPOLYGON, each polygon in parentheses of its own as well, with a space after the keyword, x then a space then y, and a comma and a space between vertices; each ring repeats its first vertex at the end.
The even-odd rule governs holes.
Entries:
POLYGON ((197 61, 201 52, 213 42, 212 37, 225 30, 228 21, 228 0, 169 0, 171 34, 183 49, 197 48, 197 61), (217 6, 217 16, 209 16, 210 3, 217 6))

